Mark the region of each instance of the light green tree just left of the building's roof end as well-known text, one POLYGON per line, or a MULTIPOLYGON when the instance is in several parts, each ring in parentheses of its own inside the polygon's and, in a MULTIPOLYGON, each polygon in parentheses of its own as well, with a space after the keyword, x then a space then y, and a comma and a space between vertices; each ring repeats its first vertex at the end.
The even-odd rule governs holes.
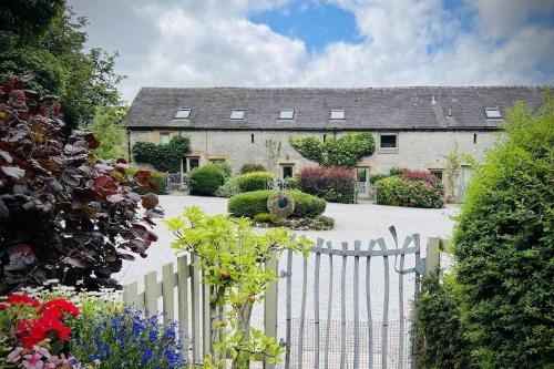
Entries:
POLYGON ((121 122, 127 112, 125 106, 99 106, 94 120, 88 126, 100 141, 94 154, 101 158, 127 158, 126 132, 121 122))

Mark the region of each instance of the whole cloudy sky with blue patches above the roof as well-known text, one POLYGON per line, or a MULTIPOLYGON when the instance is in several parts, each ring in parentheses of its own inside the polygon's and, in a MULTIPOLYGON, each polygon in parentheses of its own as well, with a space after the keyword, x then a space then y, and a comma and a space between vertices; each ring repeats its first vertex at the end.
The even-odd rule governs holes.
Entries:
POLYGON ((140 86, 554 83, 554 0, 70 0, 140 86))

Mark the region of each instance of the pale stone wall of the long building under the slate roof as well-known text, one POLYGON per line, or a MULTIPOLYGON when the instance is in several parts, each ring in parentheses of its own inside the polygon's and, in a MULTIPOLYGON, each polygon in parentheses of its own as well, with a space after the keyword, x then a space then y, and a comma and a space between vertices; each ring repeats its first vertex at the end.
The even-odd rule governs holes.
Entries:
MULTIPOLYGON (((131 131, 131 146, 137 141, 160 142, 161 131, 131 131)), ((177 131, 170 132, 171 135, 177 131)), ((192 152, 187 156, 198 156, 201 165, 211 160, 225 160, 230 164, 233 172, 238 173, 245 163, 259 163, 271 171, 276 176, 283 174, 284 164, 294 165, 295 173, 301 167, 317 165, 304 158, 288 143, 293 136, 318 136, 324 140, 332 137, 332 132, 283 132, 283 131, 179 131, 191 137, 192 152), (278 155, 271 160, 268 142, 273 141, 276 148, 280 144, 278 155)), ((458 142, 460 152, 473 156, 478 162, 484 158, 486 148, 493 146, 495 132, 490 131, 400 131, 398 133, 397 150, 380 150, 379 133, 372 132, 376 137, 376 153, 363 158, 359 166, 370 167, 371 173, 388 173, 392 166, 408 168, 444 168, 445 156, 458 142)), ((338 133, 337 136, 340 136, 338 133)), ((277 150, 275 150, 277 151, 277 150)))

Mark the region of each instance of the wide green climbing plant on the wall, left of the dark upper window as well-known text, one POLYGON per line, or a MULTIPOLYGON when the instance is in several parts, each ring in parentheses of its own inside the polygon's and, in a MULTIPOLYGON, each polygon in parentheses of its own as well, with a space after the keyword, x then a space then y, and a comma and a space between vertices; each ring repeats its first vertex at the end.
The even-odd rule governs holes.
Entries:
POLYGON ((351 133, 327 142, 314 136, 289 137, 289 142, 300 155, 322 166, 355 167, 363 156, 376 151, 371 133, 351 133))

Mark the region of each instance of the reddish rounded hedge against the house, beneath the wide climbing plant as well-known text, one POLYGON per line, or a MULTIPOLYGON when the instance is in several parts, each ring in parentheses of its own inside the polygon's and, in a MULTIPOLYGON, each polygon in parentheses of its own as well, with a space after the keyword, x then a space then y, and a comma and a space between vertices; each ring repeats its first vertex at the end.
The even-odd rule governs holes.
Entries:
POLYGON ((331 203, 353 203, 356 175, 346 168, 306 167, 298 174, 298 187, 331 203))

